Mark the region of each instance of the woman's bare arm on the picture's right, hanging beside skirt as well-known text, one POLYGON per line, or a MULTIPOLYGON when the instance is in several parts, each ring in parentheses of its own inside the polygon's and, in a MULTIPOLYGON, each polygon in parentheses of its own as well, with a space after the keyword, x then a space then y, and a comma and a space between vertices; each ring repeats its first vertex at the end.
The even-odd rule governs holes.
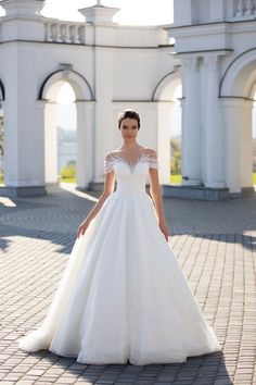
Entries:
MULTIPOLYGON (((156 153, 155 153, 156 158, 156 153)), ((150 194, 152 196, 157 215, 158 225, 161 231, 164 233, 166 240, 168 241, 169 229, 165 221, 164 209, 163 209, 163 198, 159 188, 158 170, 150 169, 150 194)))

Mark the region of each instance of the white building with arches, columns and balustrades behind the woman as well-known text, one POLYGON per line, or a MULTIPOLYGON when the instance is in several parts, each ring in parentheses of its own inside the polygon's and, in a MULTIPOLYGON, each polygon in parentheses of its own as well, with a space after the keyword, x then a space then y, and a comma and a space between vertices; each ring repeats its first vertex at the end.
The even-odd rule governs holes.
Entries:
POLYGON ((76 95, 78 188, 102 186, 104 154, 120 144, 117 114, 135 108, 140 142, 158 153, 166 195, 221 199, 253 190, 255 0, 175 0, 175 22, 162 27, 117 25, 117 9, 99 3, 80 10, 85 23, 63 22, 43 17, 43 3, 1 1, 1 194, 43 194, 56 182, 63 82, 76 95), (183 183, 171 187, 169 120, 180 84, 183 183))

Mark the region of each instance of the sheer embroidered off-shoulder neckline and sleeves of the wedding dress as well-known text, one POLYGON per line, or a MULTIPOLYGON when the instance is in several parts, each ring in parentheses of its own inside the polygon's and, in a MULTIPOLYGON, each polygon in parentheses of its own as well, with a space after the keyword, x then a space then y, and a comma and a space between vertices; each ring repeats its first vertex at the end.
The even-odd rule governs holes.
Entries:
POLYGON ((148 163, 150 169, 158 170, 158 159, 155 150, 151 148, 142 150, 113 151, 106 154, 104 160, 104 172, 110 173, 118 162, 127 164, 133 173, 139 163, 148 163))

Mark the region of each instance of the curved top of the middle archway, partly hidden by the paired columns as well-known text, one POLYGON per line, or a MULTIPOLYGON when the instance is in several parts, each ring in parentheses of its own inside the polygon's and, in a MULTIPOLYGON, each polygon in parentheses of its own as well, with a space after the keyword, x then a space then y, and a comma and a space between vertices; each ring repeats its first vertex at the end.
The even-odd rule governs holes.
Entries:
POLYGON ((171 101, 174 100, 174 94, 176 88, 181 84, 180 66, 164 76, 156 85, 152 101, 171 101))

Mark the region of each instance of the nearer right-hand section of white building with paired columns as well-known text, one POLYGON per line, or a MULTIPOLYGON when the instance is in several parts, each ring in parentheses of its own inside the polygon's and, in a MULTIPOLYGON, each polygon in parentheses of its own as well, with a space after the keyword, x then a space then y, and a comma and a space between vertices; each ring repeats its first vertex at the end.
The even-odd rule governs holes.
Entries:
POLYGON ((168 28, 182 67, 183 184, 253 189, 256 1, 176 0, 168 28))

